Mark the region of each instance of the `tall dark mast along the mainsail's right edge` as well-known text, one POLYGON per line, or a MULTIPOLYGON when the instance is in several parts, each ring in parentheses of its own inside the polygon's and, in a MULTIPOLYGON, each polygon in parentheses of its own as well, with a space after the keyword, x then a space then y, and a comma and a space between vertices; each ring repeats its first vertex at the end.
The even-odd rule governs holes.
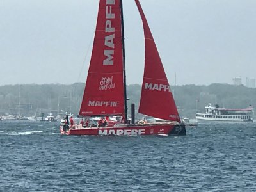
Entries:
POLYGON ((120 0, 121 10, 121 29, 122 29, 122 51, 123 51, 123 72, 124 72, 124 115, 125 122, 127 122, 127 92, 126 92, 126 73, 125 73, 125 46, 124 46, 124 15, 123 15, 123 1, 120 0))

